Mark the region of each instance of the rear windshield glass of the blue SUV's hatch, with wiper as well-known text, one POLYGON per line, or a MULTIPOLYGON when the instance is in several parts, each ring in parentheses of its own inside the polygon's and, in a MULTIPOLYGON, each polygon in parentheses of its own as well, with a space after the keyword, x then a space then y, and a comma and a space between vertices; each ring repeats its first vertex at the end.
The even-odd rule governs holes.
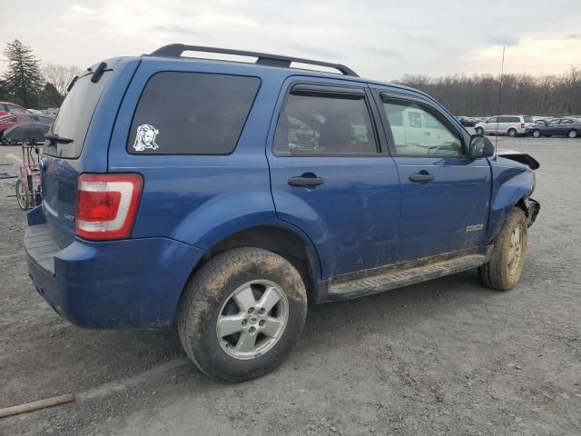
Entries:
POLYGON ((69 94, 66 95, 51 127, 51 133, 72 139, 73 142, 47 145, 44 147, 44 154, 66 159, 76 159, 81 155, 84 136, 87 134, 94 109, 111 77, 111 72, 105 70, 96 84, 91 82, 91 75, 79 77, 75 82, 69 94))

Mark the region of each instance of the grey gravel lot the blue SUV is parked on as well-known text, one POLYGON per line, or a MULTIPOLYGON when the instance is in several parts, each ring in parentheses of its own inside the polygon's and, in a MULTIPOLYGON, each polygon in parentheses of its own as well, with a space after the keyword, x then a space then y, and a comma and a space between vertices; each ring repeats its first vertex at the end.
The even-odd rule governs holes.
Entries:
POLYGON ((465 272, 312 307, 289 360, 237 385, 198 372, 175 332, 59 318, 26 272, 15 181, 0 181, 0 407, 78 395, 2 419, 0 434, 581 434, 581 140, 499 145, 541 163, 515 290, 465 272))

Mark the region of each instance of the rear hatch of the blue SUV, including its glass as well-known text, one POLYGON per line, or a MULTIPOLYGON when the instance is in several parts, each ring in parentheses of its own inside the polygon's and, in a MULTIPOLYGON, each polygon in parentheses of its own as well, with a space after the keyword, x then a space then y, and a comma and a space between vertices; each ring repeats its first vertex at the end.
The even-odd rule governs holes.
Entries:
POLYGON ((108 136, 103 138, 102 151, 97 154, 99 158, 95 157, 94 150, 85 150, 84 142, 95 108, 112 75, 110 69, 105 69, 99 76, 89 72, 74 81, 49 131, 60 138, 60 142, 46 141, 44 144, 42 207, 54 240, 61 248, 74 240, 79 174, 106 170, 108 136))

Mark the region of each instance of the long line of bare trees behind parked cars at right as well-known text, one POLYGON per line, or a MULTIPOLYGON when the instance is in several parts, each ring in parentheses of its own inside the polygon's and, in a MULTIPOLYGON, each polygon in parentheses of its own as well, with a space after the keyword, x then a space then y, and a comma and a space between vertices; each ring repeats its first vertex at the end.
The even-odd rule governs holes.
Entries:
POLYGON ((497 114, 499 95, 501 114, 581 115, 581 68, 575 66, 562 75, 504 74, 502 91, 500 76, 488 74, 405 75, 397 82, 432 95, 455 115, 497 114))

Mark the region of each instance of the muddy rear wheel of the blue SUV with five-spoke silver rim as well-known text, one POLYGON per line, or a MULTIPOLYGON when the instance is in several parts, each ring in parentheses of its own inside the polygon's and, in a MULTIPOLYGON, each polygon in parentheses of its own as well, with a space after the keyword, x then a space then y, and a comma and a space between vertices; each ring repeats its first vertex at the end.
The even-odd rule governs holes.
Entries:
POLYGON ((281 364, 306 315, 307 292, 289 261, 237 248, 204 264, 188 282, 178 331, 183 349, 206 375, 246 381, 281 364))

